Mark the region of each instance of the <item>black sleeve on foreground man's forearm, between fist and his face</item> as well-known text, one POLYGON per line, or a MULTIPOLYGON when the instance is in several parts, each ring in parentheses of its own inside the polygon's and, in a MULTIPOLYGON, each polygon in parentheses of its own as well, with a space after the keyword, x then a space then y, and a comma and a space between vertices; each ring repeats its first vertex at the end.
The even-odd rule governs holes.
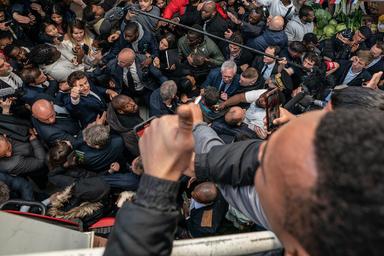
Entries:
POLYGON ((260 141, 248 140, 213 147, 206 154, 196 154, 196 177, 232 186, 253 185, 259 166, 259 145, 260 141))

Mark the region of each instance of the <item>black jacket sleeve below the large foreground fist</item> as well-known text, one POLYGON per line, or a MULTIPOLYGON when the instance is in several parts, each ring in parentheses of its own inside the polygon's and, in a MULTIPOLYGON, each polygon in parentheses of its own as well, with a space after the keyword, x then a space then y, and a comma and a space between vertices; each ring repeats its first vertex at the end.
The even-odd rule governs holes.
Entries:
POLYGON ((117 215, 104 255, 170 255, 178 190, 178 182, 143 175, 135 202, 117 215))

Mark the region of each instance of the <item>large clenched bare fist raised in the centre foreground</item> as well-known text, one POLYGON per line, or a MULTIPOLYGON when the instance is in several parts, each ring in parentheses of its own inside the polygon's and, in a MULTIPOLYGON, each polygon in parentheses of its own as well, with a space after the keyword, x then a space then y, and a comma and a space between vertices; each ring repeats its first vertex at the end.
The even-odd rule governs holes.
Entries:
POLYGON ((190 164, 194 148, 191 105, 181 105, 177 115, 154 119, 139 141, 144 173, 177 181, 190 164))

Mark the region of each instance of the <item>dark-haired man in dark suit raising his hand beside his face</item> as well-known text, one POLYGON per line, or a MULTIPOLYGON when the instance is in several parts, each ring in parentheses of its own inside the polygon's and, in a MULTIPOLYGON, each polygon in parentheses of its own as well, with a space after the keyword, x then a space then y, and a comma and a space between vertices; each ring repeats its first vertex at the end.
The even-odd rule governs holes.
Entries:
POLYGON ((65 108, 77 118, 82 127, 94 122, 99 115, 107 110, 105 97, 117 96, 111 89, 91 84, 83 71, 74 71, 67 80, 71 87, 70 95, 64 97, 65 108))

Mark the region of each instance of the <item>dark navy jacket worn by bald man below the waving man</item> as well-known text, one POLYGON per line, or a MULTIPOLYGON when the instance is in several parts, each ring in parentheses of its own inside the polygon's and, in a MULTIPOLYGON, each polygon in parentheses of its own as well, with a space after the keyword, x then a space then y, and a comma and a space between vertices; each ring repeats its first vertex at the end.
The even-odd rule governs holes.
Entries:
POLYGON ((39 138, 48 146, 57 140, 68 140, 76 148, 82 142, 79 122, 70 116, 60 118, 56 116, 54 124, 45 124, 32 117, 32 124, 39 138))

